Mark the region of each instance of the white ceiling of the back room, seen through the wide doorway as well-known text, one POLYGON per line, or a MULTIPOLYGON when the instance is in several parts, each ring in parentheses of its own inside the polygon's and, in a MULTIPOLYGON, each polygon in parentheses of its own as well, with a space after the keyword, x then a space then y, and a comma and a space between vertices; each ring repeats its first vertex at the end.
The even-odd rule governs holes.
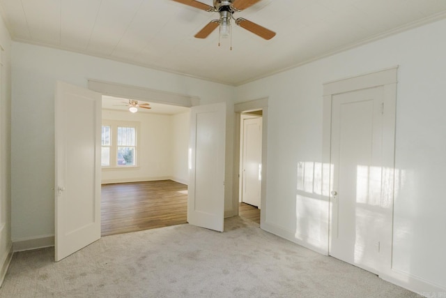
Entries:
MULTIPOLYGON (((128 98, 119 98, 114 96, 102 96, 102 109, 105 110, 119 110, 128 112, 128 98)), ((190 110, 189 107, 180 107, 177 105, 164 105, 162 103, 149 103, 147 101, 138 100, 138 103, 148 103, 151 106, 151 109, 138 109, 138 113, 149 113, 149 114, 181 114, 184 112, 188 112, 190 110)))

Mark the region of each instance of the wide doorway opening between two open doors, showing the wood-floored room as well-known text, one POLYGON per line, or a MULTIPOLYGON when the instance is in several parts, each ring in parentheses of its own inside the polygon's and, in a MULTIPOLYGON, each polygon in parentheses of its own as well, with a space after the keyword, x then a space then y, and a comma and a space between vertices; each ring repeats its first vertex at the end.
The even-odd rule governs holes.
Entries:
POLYGON ((102 236, 187 223, 190 108, 128 103, 102 96, 102 236))

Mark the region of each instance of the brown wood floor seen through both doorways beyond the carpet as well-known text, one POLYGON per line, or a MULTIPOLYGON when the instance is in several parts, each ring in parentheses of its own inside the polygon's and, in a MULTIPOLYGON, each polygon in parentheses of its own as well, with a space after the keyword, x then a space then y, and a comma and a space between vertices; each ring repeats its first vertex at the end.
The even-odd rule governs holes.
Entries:
MULTIPOLYGON (((187 185, 171 180, 102 185, 102 236, 187 223, 187 185)), ((240 204, 240 216, 260 223, 260 210, 240 204)))

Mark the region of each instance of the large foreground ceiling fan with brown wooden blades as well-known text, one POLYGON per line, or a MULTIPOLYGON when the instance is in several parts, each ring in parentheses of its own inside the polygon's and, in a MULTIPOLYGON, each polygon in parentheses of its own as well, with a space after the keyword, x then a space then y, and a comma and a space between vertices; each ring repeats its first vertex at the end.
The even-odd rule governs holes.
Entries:
POLYGON ((257 36, 260 36, 261 38, 265 38, 266 40, 270 40, 276 35, 275 32, 266 29, 265 27, 261 27, 259 24, 248 21, 243 17, 239 17, 238 19, 233 17, 234 13, 238 13, 241 10, 249 8, 250 6, 253 6, 255 3, 261 0, 213 0, 214 6, 209 6, 205 3, 201 3, 196 0, 174 0, 174 1, 201 10, 206 10, 210 13, 220 14, 220 19, 210 21, 209 24, 207 24, 203 29, 201 29, 201 31, 195 34, 195 38, 206 38, 219 26, 220 26, 220 37, 227 38, 231 33, 231 19, 234 20, 234 22, 238 26, 256 34, 257 36))

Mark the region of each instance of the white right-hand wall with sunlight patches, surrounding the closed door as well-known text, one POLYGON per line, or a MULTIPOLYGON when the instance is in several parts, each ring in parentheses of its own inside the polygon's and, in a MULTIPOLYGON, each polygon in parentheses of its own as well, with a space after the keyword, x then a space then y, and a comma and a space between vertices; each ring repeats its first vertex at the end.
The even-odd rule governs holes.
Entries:
POLYGON ((321 162, 323 83, 399 65, 399 180, 385 278, 446 292, 445 32, 446 20, 427 24, 237 88, 238 101, 269 97, 266 228, 327 251, 326 201, 296 187, 298 163, 321 162))

